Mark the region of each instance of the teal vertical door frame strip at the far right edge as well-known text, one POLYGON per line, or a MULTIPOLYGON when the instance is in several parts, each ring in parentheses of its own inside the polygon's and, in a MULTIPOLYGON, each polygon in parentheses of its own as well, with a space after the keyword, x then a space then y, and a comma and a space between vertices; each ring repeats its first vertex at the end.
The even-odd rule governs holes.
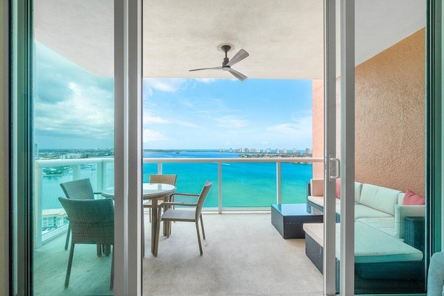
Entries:
MULTIPOLYGON (((427 0, 427 139, 426 139, 426 260, 443 250, 443 3, 427 0)), ((428 264, 427 264, 428 265, 428 264)))

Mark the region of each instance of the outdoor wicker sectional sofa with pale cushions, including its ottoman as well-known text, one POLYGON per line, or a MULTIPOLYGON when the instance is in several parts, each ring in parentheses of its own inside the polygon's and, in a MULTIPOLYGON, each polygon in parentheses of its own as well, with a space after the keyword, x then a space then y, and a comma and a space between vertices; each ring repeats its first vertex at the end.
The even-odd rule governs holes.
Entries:
MULTIPOLYGON (((323 180, 307 186, 307 207, 323 211, 323 180)), ((355 182, 355 288, 359 293, 424 288, 425 205, 404 205, 404 194, 355 182)), ((336 290, 339 291, 340 200, 336 198, 336 290)), ((305 253, 323 271, 323 224, 307 223, 305 253)))

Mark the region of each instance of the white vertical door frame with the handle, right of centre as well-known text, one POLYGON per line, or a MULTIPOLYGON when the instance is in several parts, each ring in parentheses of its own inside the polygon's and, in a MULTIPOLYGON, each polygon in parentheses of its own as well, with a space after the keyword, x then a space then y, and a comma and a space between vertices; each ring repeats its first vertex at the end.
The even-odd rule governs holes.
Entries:
POLYGON ((341 176, 340 292, 355 294, 355 1, 324 2, 325 173, 324 294, 334 295, 335 178, 341 176), (336 12, 341 23, 341 166, 336 161, 336 12), (336 173, 339 171, 340 173, 336 173))

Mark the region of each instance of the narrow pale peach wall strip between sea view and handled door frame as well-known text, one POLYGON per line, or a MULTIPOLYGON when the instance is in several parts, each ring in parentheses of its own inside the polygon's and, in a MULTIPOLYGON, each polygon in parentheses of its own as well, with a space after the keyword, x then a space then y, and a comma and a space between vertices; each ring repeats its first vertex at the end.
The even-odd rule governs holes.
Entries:
MULTIPOLYGON (((312 80, 313 157, 324 157, 324 80, 312 80), (315 124, 316 123, 316 124, 315 124)), ((313 177, 324 175, 324 164, 313 163, 313 177)))

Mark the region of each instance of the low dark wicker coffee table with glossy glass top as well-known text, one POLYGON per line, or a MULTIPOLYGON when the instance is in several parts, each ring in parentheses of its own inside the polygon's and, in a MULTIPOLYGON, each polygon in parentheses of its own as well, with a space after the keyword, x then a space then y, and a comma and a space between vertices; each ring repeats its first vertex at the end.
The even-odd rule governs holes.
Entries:
POLYGON ((271 224, 283 238, 305 238, 304 223, 323 223, 323 215, 307 212, 307 204, 271 204, 271 224))

